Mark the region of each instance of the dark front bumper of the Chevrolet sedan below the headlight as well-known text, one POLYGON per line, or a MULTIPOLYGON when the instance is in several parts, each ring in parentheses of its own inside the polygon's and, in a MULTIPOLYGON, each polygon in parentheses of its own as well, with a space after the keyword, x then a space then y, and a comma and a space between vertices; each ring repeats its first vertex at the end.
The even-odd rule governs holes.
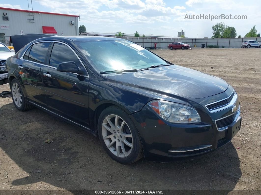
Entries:
MULTIPOLYGON (((239 105, 239 102, 236 102, 239 105)), ((146 160, 167 162, 180 159, 193 159, 229 143, 241 128, 241 117, 223 131, 218 131, 215 118, 231 114, 231 109, 220 111, 212 116, 201 115, 201 123, 173 124, 156 116, 149 106, 131 116, 139 130, 146 160), (220 115, 220 116, 218 116, 220 115)))

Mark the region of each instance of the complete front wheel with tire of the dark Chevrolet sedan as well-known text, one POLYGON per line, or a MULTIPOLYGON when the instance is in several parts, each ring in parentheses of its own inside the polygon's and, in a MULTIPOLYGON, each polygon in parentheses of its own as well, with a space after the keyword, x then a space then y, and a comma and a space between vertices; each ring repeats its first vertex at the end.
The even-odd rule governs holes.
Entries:
POLYGON ((117 106, 110 106, 100 114, 98 135, 106 153, 117 162, 131 164, 144 156, 134 122, 117 106))

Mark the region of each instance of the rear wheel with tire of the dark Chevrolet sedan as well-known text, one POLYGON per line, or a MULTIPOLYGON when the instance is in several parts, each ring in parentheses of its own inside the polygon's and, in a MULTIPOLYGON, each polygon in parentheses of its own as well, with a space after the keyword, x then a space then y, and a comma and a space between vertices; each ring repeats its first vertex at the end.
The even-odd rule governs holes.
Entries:
POLYGON ((25 111, 33 108, 31 104, 25 101, 21 85, 16 79, 11 82, 11 95, 17 110, 25 111))

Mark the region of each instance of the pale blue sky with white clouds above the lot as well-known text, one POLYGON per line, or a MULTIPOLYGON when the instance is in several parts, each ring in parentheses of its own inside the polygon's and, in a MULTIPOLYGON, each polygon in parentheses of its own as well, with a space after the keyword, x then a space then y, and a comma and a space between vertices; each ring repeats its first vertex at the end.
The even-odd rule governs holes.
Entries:
MULTIPOLYGON (((29 0, 30 2, 31 0, 29 0)), ((31 3, 31 2, 30 2, 31 3)), ((260 0, 32 0, 33 10, 81 15, 79 26, 87 32, 128 33, 177 36, 181 28, 186 37, 211 37, 218 22, 235 27, 245 36, 256 25, 261 32, 260 0), (246 20, 184 19, 185 16, 246 15, 246 20)), ((27 0, 0 1, 0 7, 28 9, 27 0), (6 2, 6 3, 3 3, 6 2)))

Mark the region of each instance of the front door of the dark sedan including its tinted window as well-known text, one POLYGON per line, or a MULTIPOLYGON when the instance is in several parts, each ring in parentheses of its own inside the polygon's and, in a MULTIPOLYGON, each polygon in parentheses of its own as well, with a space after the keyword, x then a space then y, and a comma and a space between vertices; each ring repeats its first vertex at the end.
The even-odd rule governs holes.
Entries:
POLYGON ((73 49, 62 42, 54 42, 49 52, 49 64, 43 70, 44 91, 48 109, 75 123, 89 126, 89 77, 70 72, 58 72, 62 62, 74 61, 83 66, 73 49))

